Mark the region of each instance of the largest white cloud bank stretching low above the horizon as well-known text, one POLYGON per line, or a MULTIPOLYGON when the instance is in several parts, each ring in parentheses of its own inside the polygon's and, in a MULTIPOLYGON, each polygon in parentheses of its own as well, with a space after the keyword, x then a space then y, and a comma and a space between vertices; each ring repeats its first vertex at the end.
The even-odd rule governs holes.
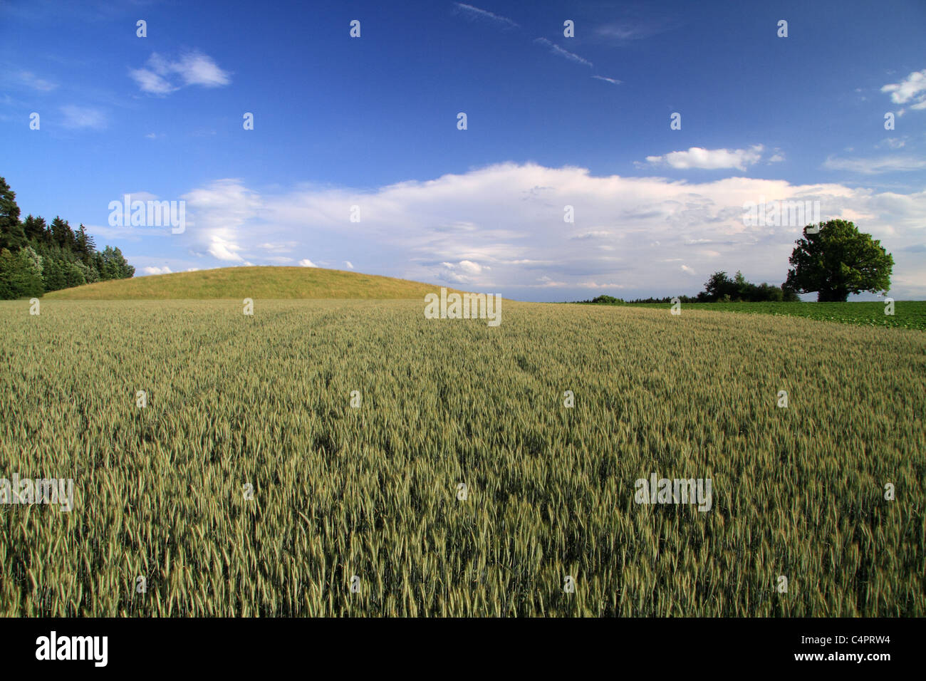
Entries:
POLYGON ((821 219, 854 220, 882 239, 895 273, 906 277, 907 291, 898 296, 926 296, 926 287, 914 287, 926 263, 903 250, 923 243, 926 191, 747 177, 596 177, 582 168, 501 163, 372 190, 307 184, 261 195, 223 180, 186 196, 194 198, 186 232, 170 238, 203 258, 229 258, 219 265, 266 264, 280 255, 266 247, 274 245, 332 260, 329 254, 349 250, 379 263, 369 273, 537 300, 580 299, 594 286, 693 295, 705 272, 721 269, 780 284, 803 225, 746 226, 743 206, 819 200, 821 219), (363 221, 350 221, 353 205, 363 221), (567 205, 575 207, 574 223, 563 221, 567 205))

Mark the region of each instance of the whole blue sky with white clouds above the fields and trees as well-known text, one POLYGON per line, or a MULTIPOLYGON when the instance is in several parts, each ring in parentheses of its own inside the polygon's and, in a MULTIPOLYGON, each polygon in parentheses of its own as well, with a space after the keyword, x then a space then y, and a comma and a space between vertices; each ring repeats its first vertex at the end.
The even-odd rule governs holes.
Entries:
POLYGON ((0 2, 0 175, 139 275, 301 264, 524 300, 780 284, 800 226, 743 206, 812 200, 926 298, 924 30, 920 0, 0 2), (126 194, 183 201, 184 231, 110 225, 126 194))

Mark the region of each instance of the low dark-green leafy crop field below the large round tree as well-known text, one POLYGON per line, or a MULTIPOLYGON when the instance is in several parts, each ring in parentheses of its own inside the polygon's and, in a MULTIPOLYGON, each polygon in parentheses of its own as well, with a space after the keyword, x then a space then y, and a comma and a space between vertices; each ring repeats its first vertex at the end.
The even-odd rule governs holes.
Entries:
MULTIPOLYGON (((634 306, 666 309, 667 304, 634 303, 634 306)), ((857 303, 682 303, 683 309, 712 309, 718 312, 746 312, 783 317, 807 317, 821 322, 861 326, 920 329, 926 331, 926 300, 895 301, 894 314, 884 314, 883 302, 857 303)))

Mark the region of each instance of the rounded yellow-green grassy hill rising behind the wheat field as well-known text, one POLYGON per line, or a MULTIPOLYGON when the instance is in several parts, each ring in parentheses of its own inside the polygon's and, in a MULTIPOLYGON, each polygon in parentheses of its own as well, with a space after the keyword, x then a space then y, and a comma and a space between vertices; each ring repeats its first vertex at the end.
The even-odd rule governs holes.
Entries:
POLYGON ((45 294, 57 300, 422 299, 437 284, 315 267, 230 267, 119 279, 45 294))

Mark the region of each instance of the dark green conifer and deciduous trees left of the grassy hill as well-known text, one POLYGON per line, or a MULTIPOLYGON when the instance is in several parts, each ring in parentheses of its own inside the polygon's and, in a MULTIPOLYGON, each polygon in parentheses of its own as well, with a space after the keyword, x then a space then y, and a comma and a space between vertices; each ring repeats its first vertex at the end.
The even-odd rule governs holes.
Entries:
POLYGON ((134 274, 119 248, 97 251, 82 224, 75 231, 59 217, 51 224, 31 215, 19 221, 16 194, 0 177, 0 299, 42 296, 134 274))

